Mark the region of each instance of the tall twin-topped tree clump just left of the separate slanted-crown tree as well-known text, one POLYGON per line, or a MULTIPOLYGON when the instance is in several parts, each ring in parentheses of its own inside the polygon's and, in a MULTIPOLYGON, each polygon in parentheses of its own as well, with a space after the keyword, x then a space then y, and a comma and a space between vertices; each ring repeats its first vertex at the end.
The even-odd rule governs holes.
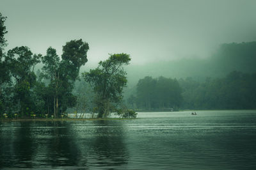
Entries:
POLYGON ((63 46, 62 60, 52 47, 47 49, 47 54, 43 57, 42 77, 49 80, 47 86, 52 98, 54 116, 67 110, 67 107, 76 105, 76 97, 72 94, 74 82, 79 75, 79 69, 87 62, 88 43, 80 40, 72 40, 63 46))

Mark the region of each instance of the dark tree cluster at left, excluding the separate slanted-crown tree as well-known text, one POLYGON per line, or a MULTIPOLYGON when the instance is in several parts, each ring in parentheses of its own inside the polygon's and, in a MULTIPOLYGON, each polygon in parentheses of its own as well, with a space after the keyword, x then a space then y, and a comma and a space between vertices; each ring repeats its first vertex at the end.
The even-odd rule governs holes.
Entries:
POLYGON ((33 54, 28 47, 15 47, 3 52, 7 33, 0 13, 0 112, 29 116, 52 114, 76 105, 72 93, 79 68, 87 62, 88 43, 72 40, 63 46, 62 59, 52 47, 47 54, 33 54), (34 72, 36 64, 42 62, 42 72, 34 72))

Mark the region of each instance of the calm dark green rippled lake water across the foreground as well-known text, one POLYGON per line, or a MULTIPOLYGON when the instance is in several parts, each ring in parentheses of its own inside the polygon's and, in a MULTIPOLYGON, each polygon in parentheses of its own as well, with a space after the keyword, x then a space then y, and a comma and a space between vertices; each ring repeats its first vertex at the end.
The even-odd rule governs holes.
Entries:
POLYGON ((0 122, 0 169, 256 169, 256 111, 0 122))

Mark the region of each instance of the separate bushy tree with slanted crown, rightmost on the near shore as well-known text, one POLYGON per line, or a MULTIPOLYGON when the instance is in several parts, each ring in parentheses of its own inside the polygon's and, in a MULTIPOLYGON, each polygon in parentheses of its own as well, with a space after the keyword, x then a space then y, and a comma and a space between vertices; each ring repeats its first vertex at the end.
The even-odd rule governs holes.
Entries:
POLYGON ((123 65, 128 65, 131 58, 128 54, 111 54, 106 61, 100 61, 99 66, 84 72, 84 80, 93 86, 95 105, 98 117, 108 116, 110 111, 122 100, 122 92, 127 84, 123 65))

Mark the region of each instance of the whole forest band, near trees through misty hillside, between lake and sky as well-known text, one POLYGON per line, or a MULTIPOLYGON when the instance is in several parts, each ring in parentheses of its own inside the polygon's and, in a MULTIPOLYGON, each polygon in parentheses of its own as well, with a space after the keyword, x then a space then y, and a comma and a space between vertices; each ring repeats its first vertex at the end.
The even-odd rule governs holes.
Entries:
MULTIPOLYGON (((96 112, 102 118, 117 112, 128 118, 135 111, 256 109, 256 42, 225 43, 211 58, 158 66, 158 76, 132 72, 134 67, 127 66, 131 57, 125 53, 109 54, 97 68, 81 72, 88 61, 87 42, 67 42, 61 56, 53 47, 45 55, 26 46, 6 51, 6 19, 0 13, 1 117, 60 118, 67 112, 96 112), (173 69, 181 75, 173 75, 173 69)), ((140 69, 155 70, 147 65, 140 69)))

